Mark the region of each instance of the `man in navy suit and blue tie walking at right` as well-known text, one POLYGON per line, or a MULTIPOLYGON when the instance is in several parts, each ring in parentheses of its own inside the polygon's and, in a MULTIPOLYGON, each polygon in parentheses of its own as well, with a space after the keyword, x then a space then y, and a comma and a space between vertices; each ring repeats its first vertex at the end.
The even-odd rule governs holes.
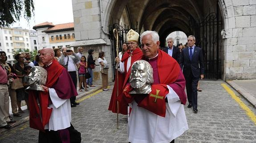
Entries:
POLYGON ((197 113, 197 84, 199 78, 203 79, 204 77, 203 51, 200 47, 195 46, 195 36, 188 36, 187 42, 188 47, 181 51, 179 65, 183 68, 186 80, 187 99, 189 102, 187 108, 193 106, 193 111, 197 113))

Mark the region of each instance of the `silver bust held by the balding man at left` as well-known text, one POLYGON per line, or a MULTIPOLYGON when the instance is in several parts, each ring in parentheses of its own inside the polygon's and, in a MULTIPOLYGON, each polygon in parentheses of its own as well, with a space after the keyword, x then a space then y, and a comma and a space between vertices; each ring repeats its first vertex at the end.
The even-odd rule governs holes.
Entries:
POLYGON ((27 89, 44 91, 41 85, 45 85, 46 80, 47 71, 41 66, 34 66, 28 75, 27 89))

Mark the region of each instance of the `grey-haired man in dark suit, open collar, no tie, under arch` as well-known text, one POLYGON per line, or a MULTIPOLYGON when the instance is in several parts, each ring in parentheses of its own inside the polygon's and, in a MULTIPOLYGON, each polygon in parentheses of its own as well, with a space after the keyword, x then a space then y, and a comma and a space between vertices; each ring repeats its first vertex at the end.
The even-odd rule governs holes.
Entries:
POLYGON ((179 48, 173 46, 173 38, 167 38, 168 46, 163 49, 167 54, 169 54, 172 58, 174 58, 177 62, 179 62, 180 51, 179 48))

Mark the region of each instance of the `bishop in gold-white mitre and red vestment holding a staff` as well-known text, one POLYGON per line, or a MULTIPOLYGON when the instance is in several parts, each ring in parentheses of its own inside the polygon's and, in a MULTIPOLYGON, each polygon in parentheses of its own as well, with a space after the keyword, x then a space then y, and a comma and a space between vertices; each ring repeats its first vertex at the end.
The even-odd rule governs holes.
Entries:
MULTIPOLYGON (((122 97, 122 91, 129 79, 130 76, 130 66, 137 60, 141 59, 143 54, 138 46, 138 38, 139 34, 130 29, 127 33, 126 38, 128 39, 128 50, 122 56, 122 59, 116 57, 115 61, 119 62, 119 69, 118 69, 118 82, 115 81, 114 89, 110 99, 109 110, 114 113, 117 113, 117 97, 122 97), (121 62, 120 62, 121 61, 121 62), (118 89, 117 89, 118 84, 118 89), (118 90, 118 96, 117 96, 118 90)), ((119 113, 127 115, 127 107, 128 104, 123 103, 122 101, 119 102, 119 113)))

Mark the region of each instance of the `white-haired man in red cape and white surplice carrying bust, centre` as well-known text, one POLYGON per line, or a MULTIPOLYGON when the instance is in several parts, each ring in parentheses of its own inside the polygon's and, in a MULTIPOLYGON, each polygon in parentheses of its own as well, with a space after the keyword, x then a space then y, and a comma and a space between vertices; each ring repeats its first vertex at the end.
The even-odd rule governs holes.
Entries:
POLYGON ((131 106, 128 141, 131 143, 174 143, 188 129, 184 111, 185 79, 178 62, 158 49, 159 35, 145 31, 141 35, 142 59, 153 68, 154 82, 149 94, 129 94, 124 89, 123 100, 131 106))

